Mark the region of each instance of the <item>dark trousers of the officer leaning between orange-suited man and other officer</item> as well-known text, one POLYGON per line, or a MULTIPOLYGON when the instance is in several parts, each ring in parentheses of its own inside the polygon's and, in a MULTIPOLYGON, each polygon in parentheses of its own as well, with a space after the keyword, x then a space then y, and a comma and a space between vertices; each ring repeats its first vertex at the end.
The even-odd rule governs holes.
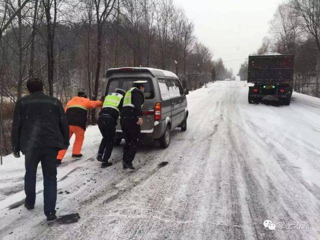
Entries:
POLYGON ((107 162, 111 156, 113 142, 115 137, 116 120, 112 117, 98 118, 98 127, 102 134, 102 140, 99 146, 98 154, 101 154, 102 160, 107 162))

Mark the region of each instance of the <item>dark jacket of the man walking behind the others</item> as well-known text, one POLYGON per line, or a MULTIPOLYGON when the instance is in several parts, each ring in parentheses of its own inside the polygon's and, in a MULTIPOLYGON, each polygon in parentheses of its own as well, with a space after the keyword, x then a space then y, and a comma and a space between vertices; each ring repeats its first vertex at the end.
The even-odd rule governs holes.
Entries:
POLYGON ((30 147, 69 145, 69 126, 61 102, 41 91, 21 97, 12 121, 12 151, 24 153, 30 147))

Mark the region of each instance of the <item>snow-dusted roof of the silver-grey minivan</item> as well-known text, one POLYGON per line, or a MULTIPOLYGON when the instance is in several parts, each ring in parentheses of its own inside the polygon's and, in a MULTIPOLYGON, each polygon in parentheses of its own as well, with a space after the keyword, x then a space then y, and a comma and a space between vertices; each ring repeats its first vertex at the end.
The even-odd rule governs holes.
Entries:
POLYGON ((108 77, 112 73, 117 72, 149 72, 152 74, 152 76, 164 76, 164 77, 173 77, 178 78, 173 72, 162 70, 162 69, 156 69, 156 68, 150 68, 150 67, 120 67, 120 68, 109 68, 106 71, 105 76, 108 77))

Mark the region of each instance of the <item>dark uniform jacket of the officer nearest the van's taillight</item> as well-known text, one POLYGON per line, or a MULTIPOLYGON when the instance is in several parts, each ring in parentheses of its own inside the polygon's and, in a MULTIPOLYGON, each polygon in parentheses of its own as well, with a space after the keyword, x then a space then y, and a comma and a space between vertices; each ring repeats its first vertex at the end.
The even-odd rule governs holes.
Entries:
POLYGON ((134 105, 134 108, 131 106, 123 106, 120 116, 125 117, 142 117, 142 104, 144 102, 144 95, 140 89, 134 88, 131 91, 131 103, 134 105))

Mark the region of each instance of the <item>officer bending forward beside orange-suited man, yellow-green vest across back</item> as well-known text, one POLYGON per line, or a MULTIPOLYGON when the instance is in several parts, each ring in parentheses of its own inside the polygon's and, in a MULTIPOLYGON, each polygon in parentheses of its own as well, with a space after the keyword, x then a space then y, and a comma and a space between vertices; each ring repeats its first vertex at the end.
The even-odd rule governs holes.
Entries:
POLYGON ((115 92, 104 97, 102 109, 99 112, 97 123, 102 134, 102 140, 96 159, 102 162, 102 168, 112 165, 112 162, 108 162, 108 160, 113 149, 116 121, 119 112, 122 110, 124 95, 124 90, 116 88, 115 92))

